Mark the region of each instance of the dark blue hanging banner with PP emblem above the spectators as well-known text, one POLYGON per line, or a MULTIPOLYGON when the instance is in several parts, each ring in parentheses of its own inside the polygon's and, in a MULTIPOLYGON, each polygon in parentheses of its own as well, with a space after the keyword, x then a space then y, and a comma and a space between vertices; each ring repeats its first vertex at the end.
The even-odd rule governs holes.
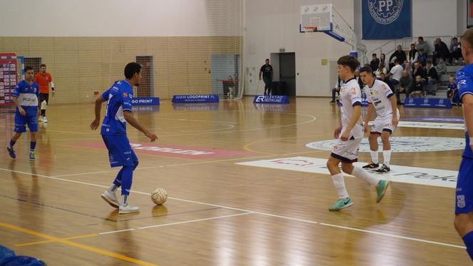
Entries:
POLYGON ((410 0, 363 0, 363 40, 412 36, 410 0))

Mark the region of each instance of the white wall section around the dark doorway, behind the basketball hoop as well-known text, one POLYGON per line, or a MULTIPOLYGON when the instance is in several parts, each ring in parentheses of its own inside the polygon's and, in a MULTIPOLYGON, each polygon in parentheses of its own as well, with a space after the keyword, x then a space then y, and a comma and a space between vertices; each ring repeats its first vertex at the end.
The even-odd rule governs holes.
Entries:
MULTIPOLYGON (((246 93, 255 94, 259 68, 271 53, 296 53, 296 95, 329 96, 336 81, 330 80, 329 64, 321 60, 338 59, 350 52, 350 46, 322 33, 300 34, 300 6, 326 4, 328 0, 258 0, 246 1, 245 51, 246 93), (251 74, 251 76, 250 76, 251 74)), ((350 24, 353 25, 353 1, 333 1, 350 24)), ((261 84, 260 84, 261 86, 261 84)), ((259 88, 261 93, 261 88, 259 88)))

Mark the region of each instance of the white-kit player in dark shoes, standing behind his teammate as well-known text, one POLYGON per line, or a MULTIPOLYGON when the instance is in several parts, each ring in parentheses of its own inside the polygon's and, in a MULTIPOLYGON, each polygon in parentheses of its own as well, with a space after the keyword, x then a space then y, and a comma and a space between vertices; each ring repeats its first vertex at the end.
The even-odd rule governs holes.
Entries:
POLYGON ((365 169, 372 169, 379 167, 378 161, 378 137, 381 136, 383 140, 383 165, 376 170, 377 173, 388 173, 390 169, 391 160, 391 143, 390 136, 399 123, 399 110, 396 106, 396 96, 394 95, 388 84, 377 80, 372 75, 373 70, 369 66, 360 69, 361 81, 366 86, 366 101, 370 104, 368 106, 368 115, 365 117, 365 125, 363 131, 368 132, 368 122, 376 113, 376 118, 371 127, 370 137, 370 153, 371 163, 363 166, 365 169))

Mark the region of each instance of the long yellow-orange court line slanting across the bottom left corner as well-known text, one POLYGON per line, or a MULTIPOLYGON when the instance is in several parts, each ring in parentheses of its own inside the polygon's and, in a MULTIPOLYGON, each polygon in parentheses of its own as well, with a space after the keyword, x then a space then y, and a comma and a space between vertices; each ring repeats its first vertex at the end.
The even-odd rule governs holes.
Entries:
POLYGON ((98 253, 100 255, 105 255, 105 256, 108 256, 108 257, 114 257, 115 259, 125 260, 125 261, 128 261, 128 262, 133 262, 133 263, 136 263, 137 265, 158 266, 158 265, 150 263, 150 262, 145 262, 143 260, 137 260, 133 257, 128 257, 128 256, 125 256, 125 255, 118 254, 118 253, 115 253, 115 252, 110 252, 110 251, 107 251, 107 250, 102 250, 102 249, 97 248, 97 247, 91 247, 91 246, 88 246, 88 245, 83 245, 83 244, 80 244, 78 242, 73 242, 73 241, 70 241, 70 240, 63 240, 61 238, 57 238, 57 237, 53 237, 51 235, 43 234, 42 232, 36 232, 36 231, 29 230, 29 229, 19 227, 19 226, 16 226, 16 225, 10 225, 10 224, 5 223, 5 222, 0 222, 0 226, 11 229, 11 230, 15 230, 15 231, 18 231, 18 232, 24 232, 28 235, 34 235, 36 237, 46 238, 47 240, 55 240, 56 242, 60 242, 61 244, 69 245, 69 246, 72 246, 72 247, 78 247, 80 249, 88 250, 88 251, 91 251, 91 252, 94 252, 94 253, 98 253))

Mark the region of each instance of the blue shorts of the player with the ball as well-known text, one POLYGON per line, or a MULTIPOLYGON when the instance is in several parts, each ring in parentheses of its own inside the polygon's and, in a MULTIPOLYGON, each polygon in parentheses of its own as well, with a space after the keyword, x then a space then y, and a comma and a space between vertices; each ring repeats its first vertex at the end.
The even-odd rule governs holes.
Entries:
POLYGON ((110 167, 135 165, 138 161, 127 135, 102 135, 102 138, 108 149, 110 167))

